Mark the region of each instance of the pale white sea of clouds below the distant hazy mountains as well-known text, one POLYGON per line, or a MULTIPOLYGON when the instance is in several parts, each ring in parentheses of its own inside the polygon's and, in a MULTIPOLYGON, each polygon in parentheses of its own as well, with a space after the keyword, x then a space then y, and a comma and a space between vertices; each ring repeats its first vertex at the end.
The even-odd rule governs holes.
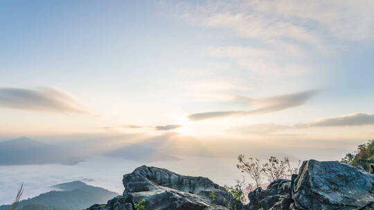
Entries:
POLYGON ((179 157, 179 161, 139 163, 119 158, 89 158, 75 165, 41 164, 0 166, 0 205, 10 204, 24 183, 22 199, 55 190, 51 186, 62 182, 82 180, 87 184, 103 187, 117 193, 123 192, 123 174, 131 173, 138 166, 158 166, 183 175, 208 177, 217 184, 233 184, 241 178, 236 169, 236 158, 179 157))

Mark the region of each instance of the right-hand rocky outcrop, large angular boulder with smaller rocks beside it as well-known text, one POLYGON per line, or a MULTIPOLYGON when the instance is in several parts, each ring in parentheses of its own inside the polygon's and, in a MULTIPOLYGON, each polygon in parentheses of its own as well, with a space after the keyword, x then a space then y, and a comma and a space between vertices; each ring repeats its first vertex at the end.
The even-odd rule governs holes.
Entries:
POLYGON ((374 175, 336 161, 303 162, 292 180, 249 193, 250 210, 373 210, 374 175))

